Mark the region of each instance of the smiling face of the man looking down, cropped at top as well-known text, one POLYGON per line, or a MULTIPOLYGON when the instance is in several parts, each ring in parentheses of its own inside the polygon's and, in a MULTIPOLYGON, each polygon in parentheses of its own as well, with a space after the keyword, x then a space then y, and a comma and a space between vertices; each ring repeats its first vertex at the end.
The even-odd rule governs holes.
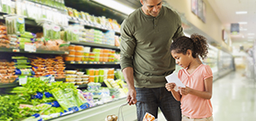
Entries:
POLYGON ((162 8, 162 0, 140 0, 140 2, 143 4, 143 12, 154 17, 159 14, 162 8))

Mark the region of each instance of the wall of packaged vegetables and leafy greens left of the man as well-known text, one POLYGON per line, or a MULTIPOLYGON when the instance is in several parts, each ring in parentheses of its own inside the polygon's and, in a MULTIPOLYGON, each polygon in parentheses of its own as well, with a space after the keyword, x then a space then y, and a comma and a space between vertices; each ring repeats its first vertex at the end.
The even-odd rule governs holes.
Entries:
POLYGON ((125 97, 117 20, 64 0, 2 0, 0 22, 0 120, 58 118, 125 97))

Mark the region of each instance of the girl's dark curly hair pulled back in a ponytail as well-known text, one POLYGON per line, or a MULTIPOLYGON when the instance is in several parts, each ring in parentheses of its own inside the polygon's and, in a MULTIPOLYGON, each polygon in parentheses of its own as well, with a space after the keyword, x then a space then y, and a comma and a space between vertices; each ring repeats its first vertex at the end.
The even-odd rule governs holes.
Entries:
POLYGON ((191 37, 178 37, 174 39, 174 43, 171 44, 171 51, 175 51, 176 53, 186 55, 186 50, 192 50, 192 57, 197 58, 201 56, 202 59, 208 54, 208 43, 206 42, 206 38, 198 35, 196 33, 192 34, 191 37))

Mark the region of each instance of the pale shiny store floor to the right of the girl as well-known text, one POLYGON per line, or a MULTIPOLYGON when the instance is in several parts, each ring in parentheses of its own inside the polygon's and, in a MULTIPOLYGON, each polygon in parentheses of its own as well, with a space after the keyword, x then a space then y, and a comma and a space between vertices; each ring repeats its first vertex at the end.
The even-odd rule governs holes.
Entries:
MULTIPOLYGON (((243 76, 244 71, 230 72, 213 83, 211 103, 214 121, 255 121, 256 83, 243 76)), ((160 112, 158 121, 165 121, 160 112)))

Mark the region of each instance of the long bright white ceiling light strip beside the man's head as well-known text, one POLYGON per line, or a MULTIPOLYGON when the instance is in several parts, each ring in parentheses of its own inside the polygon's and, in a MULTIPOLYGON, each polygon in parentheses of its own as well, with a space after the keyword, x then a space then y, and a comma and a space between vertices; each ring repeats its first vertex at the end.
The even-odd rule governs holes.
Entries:
POLYGON ((131 14, 135 9, 132 9, 122 3, 113 1, 113 0, 92 0, 96 3, 101 3, 102 5, 105 5, 111 9, 118 10, 119 12, 122 12, 124 14, 131 14))

